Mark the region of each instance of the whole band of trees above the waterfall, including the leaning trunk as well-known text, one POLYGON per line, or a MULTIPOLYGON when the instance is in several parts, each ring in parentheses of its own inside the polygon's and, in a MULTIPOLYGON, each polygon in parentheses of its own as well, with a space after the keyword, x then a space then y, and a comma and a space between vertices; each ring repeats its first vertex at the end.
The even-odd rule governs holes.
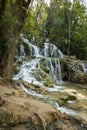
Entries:
POLYGON ((82 0, 1 0, 0 70, 10 78, 20 33, 33 43, 48 38, 65 54, 87 60, 87 9, 82 0))

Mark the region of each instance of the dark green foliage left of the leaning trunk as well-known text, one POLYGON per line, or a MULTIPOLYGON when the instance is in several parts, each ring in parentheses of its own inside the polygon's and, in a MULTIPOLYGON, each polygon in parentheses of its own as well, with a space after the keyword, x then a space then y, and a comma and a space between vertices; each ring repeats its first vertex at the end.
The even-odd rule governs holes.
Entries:
POLYGON ((3 15, 0 20, 0 60, 2 60, 5 52, 5 47, 14 43, 14 33, 19 24, 18 22, 18 7, 15 1, 7 0, 3 5, 3 15))

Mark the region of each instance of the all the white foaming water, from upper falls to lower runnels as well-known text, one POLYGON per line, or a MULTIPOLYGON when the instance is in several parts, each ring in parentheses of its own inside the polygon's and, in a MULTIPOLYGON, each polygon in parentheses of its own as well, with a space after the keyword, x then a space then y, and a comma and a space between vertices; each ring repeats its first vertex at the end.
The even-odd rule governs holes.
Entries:
MULTIPOLYGON (((25 39, 22 35, 21 38, 24 42, 24 44, 27 45, 28 50, 29 50, 29 59, 25 60, 22 65, 20 66, 20 71, 18 74, 16 74, 13 79, 14 80, 24 80, 28 83, 39 85, 40 87, 44 88, 44 90, 49 91, 49 92, 58 92, 58 91, 63 91, 67 92, 67 89, 64 90, 63 86, 59 86, 57 83, 62 83, 62 74, 61 74, 61 65, 60 65, 60 60, 59 58, 63 58, 64 55, 63 53, 53 44, 50 43, 44 43, 44 48, 41 50, 39 47, 36 45, 33 45, 28 41, 28 39, 25 39), (30 58, 31 57, 31 58, 30 58), (32 58, 33 57, 33 58, 32 58), (34 76, 34 71, 40 71, 43 72, 41 68, 41 59, 44 59, 45 66, 46 68, 49 69, 49 74, 52 77, 52 79, 55 81, 57 85, 53 85, 52 88, 48 88, 44 86, 44 80, 37 80, 34 76)), ((25 53, 25 46, 24 44, 20 45, 20 51, 16 50, 16 59, 17 61, 22 60, 26 58, 26 53, 25 53)), ((86 74, 87 73, 87 66, 82 63, 83 67, 83 72, 86 74)), ((45 73, 45 72, 43 72, 45 73)), ((41 77, 42 79, 42 77, 41 77)), ((29 95, 40 97, 43 99, 47 99, 46 95, 40 94, 38 92, 35 92, 33 90, 29 90, 21 84, 22 89, 29 95)), ((68 89, 69 91, 69 89, 68 89)), ((67 92, 70 93, 70 92, 67 92)), ((71 93, 72 94, 72 93, 71 93)), ((79 97, 79 95, 76 95, 79 97)), ((79 99, 79 98, 78 98, 79 99)), ((51 99, 50 99, 51 100, 51 99)), ((72 101, 68 101, 67 103, 71 103, 72 101)), ((60 107, 56 101, 53 101, 53 106, 57 109, 60 110, 62 113, 66 113, 69 115, 81 115, 77 113, 74 110, 71 110, 66 107, 60 107)))

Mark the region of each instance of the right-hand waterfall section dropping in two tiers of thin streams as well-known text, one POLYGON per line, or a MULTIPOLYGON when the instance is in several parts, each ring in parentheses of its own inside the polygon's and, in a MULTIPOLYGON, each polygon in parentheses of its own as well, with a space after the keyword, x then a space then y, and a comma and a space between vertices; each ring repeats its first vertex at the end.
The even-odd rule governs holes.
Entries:
POLYGON ((59 57, 63 58, 63 53, 57 48, 57 46, 44 43, 44 57, 46 58, 46 65, 50 70, 50 75, 58 83, 62 82, 61 66, 59 57))

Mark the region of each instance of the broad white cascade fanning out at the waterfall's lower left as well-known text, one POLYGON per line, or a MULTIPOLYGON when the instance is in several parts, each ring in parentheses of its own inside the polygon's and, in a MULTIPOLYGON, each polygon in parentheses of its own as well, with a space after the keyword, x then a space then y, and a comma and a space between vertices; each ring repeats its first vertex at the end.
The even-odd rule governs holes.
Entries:
POLYGON ((37 85, 42 85, 39 81, 35 79, 35 77, 32 75, 32 71, 34 69, 37 69, 39 67, 39 59, 33 59, 27 62, 24 62, 23 65, 20 67, 20 71, 17 75, 14 76, 14 80, 23 79, 24 81, 28 83, 33 83, 37 85))

